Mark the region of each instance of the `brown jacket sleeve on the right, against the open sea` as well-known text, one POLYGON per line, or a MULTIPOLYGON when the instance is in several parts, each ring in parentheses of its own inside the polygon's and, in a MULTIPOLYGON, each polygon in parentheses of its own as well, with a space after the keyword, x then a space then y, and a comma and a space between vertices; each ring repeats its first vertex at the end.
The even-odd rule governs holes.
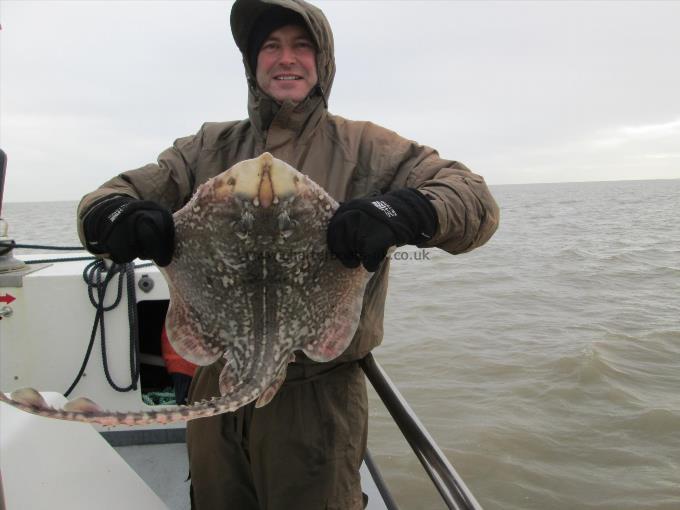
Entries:
POLYGON ((486 243, 498 228, 500 211, 484 179, 436 150, 380 128, 369 158, 387 189, 417 188, 432 200, 439 227, 422 246, 464 253, 486 243), (377 143, 376 143, 377 140, 377 143))

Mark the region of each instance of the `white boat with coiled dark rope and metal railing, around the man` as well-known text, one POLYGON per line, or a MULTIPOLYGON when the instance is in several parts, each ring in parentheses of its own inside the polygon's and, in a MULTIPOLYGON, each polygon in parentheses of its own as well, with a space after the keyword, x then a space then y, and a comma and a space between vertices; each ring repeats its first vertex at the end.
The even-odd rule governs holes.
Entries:
MULTIPOLYGON (((121 411, 169 404, 151 398, 172 386, 160 343, 169 292, 158 268, 141 260, 114 264, 82 247, 16 243, 1 219, 5 165, 0 151, 0 391, 38 388, 59 405, 77 390, 121 411), (15 256, 14 248, 48 253, 15 256)), ((481 509, 373 355, 360 364, 446 507, 481 509)), ((184 423, 107 429, 4 403, 0 418, 2 509, 50 502, 71 509, 189 508, 184 423)), ((370 451, 361 477, 367 509, 398 508, 370 451)))

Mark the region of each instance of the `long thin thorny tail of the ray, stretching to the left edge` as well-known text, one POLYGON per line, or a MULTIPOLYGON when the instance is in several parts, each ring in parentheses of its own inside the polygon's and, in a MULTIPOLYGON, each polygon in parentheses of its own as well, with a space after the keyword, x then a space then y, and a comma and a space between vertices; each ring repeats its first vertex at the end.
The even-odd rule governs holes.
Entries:
POLYGON ((13 391, 10 397, 0 391, 0 402, 5 402, 27 413, 57 420, 98 423, 105 426, 166 424, 195 420, 235 411, 255 398, 257 398, 255 393, 237 400, 232 397, 214 397, 193 405, 166 407, 159 411, 116 412, 104 410, 85 397, 71 400, 62 409, 56 409, 50 406, 33 388, 13 391))

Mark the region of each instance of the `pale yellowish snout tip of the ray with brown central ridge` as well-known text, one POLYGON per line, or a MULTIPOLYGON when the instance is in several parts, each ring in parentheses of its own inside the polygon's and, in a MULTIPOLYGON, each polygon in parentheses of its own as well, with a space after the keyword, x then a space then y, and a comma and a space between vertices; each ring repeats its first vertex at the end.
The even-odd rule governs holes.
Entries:
POLYGON ((237 163, 220 180, 220 192, 263 208, 294 195, 300 184, 299 172, 268 152, 237 163))

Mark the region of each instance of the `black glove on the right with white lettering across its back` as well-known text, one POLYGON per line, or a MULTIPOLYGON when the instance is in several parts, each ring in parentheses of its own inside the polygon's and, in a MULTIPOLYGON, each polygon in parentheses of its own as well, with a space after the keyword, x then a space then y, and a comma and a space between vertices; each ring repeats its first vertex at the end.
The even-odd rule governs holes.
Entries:
POLYGON ((342 204, 328 225, 328 247, 345 267, 376 271, 391 246, 420 244, 438 226, 437 211, 420 191, 403 188, 342 204))

